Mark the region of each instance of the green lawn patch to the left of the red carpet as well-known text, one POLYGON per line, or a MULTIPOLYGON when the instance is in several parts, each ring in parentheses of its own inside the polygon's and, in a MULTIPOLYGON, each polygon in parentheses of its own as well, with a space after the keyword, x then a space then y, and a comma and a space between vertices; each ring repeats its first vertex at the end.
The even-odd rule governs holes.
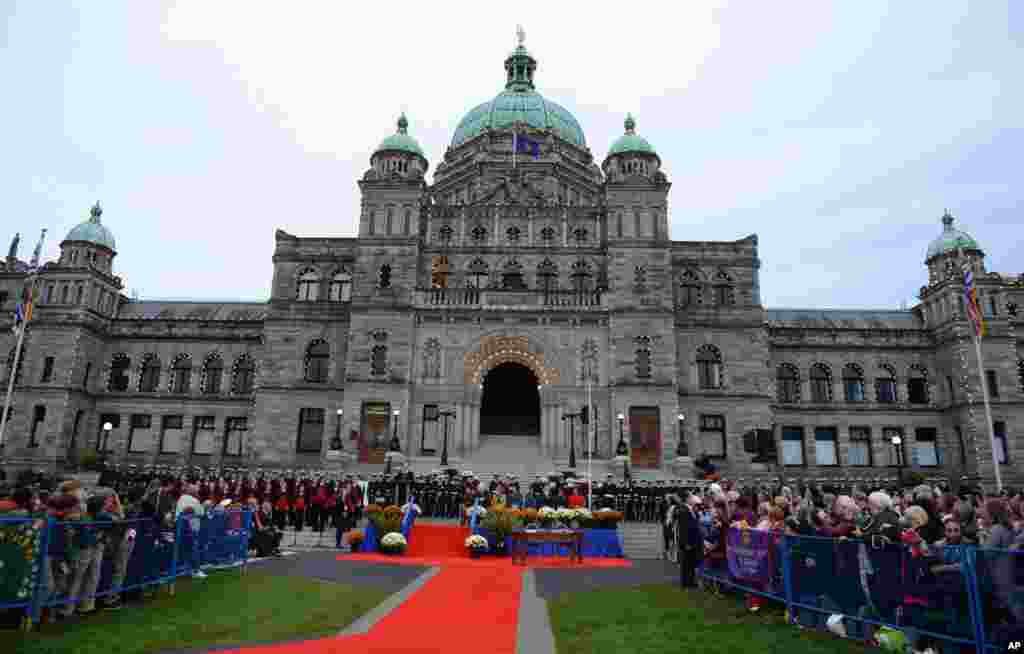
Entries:
POLYGON ((0 633, 0 651, 130 654, 312 638, 341 630, 386 596, 252 569, 245 575, 224 570, 202 581, 179 579, 174 597, 162 590, 157 598, 126 604, 120 611, 97 610, 31 634, 0 633))

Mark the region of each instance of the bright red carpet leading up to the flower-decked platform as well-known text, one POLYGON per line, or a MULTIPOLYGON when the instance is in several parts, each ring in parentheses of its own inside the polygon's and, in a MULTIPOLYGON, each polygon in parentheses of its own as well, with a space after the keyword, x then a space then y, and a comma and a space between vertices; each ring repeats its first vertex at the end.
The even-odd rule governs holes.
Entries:
MULTIPOLYGON (((353 554, 339 561, 439 566, 440 571, 369 633, 345 638, 247 647, 242 654, 515 654, 522 565, 511 557, 470 559, 466 527, 422 525, 413 529, 404 556, 353 554)), ((528 557, 530 567, 628 567, 624 559, 528 557)))

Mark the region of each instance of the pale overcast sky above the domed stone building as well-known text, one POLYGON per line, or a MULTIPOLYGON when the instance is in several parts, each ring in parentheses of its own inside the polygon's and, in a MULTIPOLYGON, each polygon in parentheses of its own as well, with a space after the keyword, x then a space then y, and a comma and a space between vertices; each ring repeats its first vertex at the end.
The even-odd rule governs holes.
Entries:
POLYGON ((601 6, 0 1, 2 247, 99 200, 127 293, 265 299, 274 229, 354 235, 399 112, 432 170, 521 23, 599 161, 634 114, 673 238, 758 234, 766 306, 912 304, 946 207, 1024 272, 1024 3, 601 6))

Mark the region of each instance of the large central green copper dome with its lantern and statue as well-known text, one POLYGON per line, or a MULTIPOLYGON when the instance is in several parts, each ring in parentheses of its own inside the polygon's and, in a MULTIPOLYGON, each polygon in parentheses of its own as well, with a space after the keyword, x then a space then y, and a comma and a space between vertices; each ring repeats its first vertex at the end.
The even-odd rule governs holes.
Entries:
POLYGON ((547 99, 534 90, 534 71, 537 60, 522 45, 505 59, 508 82, 505 90, 493 100, 474 106, 466 114, 452 137, 452 147, 457 147, 488 129, 511 129, 520 124, 539 130, 551 130, 558 137, 578 147, 587 147, 583 128, 565 107, 547 99))

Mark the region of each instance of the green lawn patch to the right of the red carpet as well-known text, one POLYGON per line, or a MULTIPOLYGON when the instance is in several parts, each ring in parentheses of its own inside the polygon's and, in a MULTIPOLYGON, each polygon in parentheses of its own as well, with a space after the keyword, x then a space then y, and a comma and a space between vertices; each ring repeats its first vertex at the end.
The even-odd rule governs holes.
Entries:
POLYGON ((558 654, 693 652, 864 654, 863 646, 786 624, 765 604, 659 584, 564 594, 548 602, 558 654))

